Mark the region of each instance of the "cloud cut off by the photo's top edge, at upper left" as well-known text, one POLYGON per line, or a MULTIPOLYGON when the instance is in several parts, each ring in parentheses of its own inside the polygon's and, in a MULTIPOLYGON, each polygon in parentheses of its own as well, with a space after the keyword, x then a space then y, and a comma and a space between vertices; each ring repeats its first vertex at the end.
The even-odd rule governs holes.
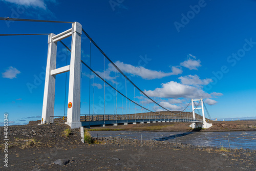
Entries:
POLYGON ((45 4, 44 0, 2 0, 2 1, 13 3, 16 5, 23 5, 26 7, 42 8, 44 10, 47 9, 47 5, 45 4))

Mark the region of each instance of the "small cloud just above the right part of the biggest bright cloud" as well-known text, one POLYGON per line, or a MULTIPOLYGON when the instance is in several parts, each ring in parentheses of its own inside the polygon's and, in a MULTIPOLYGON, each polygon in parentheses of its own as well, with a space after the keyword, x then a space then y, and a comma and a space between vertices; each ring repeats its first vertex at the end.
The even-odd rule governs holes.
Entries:
POLYGON ((208 83, 212 82, 212 79, 206 78, 206 79, 200 79, 198 75, 187 75, 183 77, 179 77, 182 84, 185 85, 207 85, 208 83))

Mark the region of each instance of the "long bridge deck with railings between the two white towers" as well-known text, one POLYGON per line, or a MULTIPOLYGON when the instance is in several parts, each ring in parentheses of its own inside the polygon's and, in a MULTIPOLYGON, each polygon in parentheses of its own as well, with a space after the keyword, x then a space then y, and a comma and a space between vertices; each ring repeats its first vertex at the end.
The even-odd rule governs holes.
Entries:
POLYGON ((146 116, 146 115, 81 115, 82 126, 104 126, 118 124, 156 123, 156 122, 195 122, 203 123, 201 118, 183 116, 146 116), (82 121, 83 120, 83 121, 82 121))

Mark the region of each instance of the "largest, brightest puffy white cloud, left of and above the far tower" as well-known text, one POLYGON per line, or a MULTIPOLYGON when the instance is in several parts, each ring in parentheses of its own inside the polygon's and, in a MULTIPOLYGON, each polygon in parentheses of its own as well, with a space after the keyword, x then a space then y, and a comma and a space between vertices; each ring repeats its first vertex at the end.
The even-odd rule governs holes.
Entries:
POLYGON ((203 90, 193 87, 183 85, 181 83, 170 81, 167 83, 162 83, 161 88, 155 90, 144 91, 145 94, 151 97, 160 98, 210 98, 210 94, 205 93, 203 90))

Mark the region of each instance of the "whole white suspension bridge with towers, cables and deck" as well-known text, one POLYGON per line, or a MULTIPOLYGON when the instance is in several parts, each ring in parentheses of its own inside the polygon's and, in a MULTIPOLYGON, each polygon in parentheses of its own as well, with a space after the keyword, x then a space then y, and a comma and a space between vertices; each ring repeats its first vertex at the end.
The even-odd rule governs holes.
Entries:
MULTIPOLYGON (((212 124, 207 123, 205 119, 204 111, 210 115, 204 104, 202 98, 191 99, 190 102, 183 106, 182 110, 173 111, 166 108, 161 101, 148 96, 143 92, 137 84, 135 84, 128 76, 122 72, 118 66, 99 48, 94 40, 87 34, 82 28, 81 24, 77 22, 58 22, 58 21, 47 21, 47 20, 33 20, 33 19, 19 19, 19 18, 3 18, 0 20, 17 20, 23 22, 52 22, 52 23, 70 23, 72 28, 61 32, 57 35, 51 33, 48 35, 48 55, 47 55, 47 67, 46 67, 46 78, 45 78, 45 90, 44 100, 42 105, 42 117, 41 124, 49 124, 54 122, 54 118, 60 116, 54 116, 54 101, 55 101, 55 80, 56 75, 66 73, 66 85, 67 87, 67 72, 69 72, 69 86, 68 86, 68 105, 65 104, 65 110, 67 109, 67 116, 65 112, 63 120, 66 120, 71 129, 78 128, 81 126, 105 126, 105 125, 118 125, 118 124, 137 124, 137 123, 155 123, 155 122, 190 122, 190 127, 202 127, 207 129, 212 124), (81 35, 85 34, 90 40, 90 61, 89 64, 81 60, 81 35), (64 44, 62 41, 68 37, 72 37, 71 48, 64 44), (68 59, 66 66, 56 68, 57 66, 57 42, 60 42, 70 52, 70 65, 68 65, 68 59), (91 67, 91 44, 94 45, 96 50, 103 57, 103 72, 94 71, 91 67), (110 80, 106 78, 105 59, 108 61, 108 66, 114 70, 115 77, 110 80), (82 79, 82 66, 88 69, 89 73, 89 112, 88 114, 81 114, 81 79, 82 79), (118 75, 118 76, 117 76, 118 75), (117 77, 122 77, 122 80, 117 81, 117 77), (91 84, 93 79, 93 84, 91 84), (103 92, 95 93, 95 85, 99 86, 101 81, 103 84, 103 92), (124 80, 124 81, 123 81, 124 80), (123 81, 123 89, 119 88, 119 84, 123 81), (129 83, 130 87, 127 87, 129 83), (106 94, 106 88, 111 92, 106 94), (93 92, 92 92, 93 90, 93 92), (133 90, 133 91, 131 91, 133 90), (93 100, 91 99, 91 92, 93 94, 93 100), (136 96, 139 94, 139 96, 136 96), (106 95, 111 96, 106 97, 106 95), (96 98, 95 98, 96 96, 96 98), (103 96, 103 97, 102 97, 103 96), (102 110, 96 110, 98 107, 95 104, 95 100, 101 97, 102 110), (137 99, 137 101, 136 101, 137 99), (112 100, 110 102, 110 100, 112 100), (123 104, 123 100, 125 104, 123 104), (112 106, 112 107, 111 107, 112 106), (132 106, 132 107, 131 107, 132 106), (201 113, 201 112, 202 113, 201 113), (92 113, 91 113, 92 112, 92 113)), ((4 34, 1 34, 4 36, 4 34)), ((45 35, 45 34, 5 34, 5 35, 45 35)), ((68 55, 67 55, 68 56, 68 55)), ((110 72, 110 71, 108 71, 110 72)), ((110 75, 108 75, 110 77, 110 75)), ((66 103, 66 94, 65 94, 66 103)), ((62 116, 61 116, 62 117, 62 116)))

